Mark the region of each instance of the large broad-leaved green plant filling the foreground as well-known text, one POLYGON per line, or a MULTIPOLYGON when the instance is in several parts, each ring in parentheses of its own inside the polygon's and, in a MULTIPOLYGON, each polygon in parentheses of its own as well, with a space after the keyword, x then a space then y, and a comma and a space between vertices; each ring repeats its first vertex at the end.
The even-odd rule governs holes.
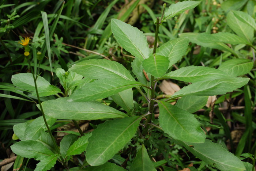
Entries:
MULTIPOLYGON (((37 95, 37 106, 42 112, 42 117, 14 126, 14 133, 21 141, 11 146, 12 151, 23 157, 40 160, 36 170, 49 170, 57 160, 69 170, 68 160, 84 151, 86 160, 78 170, 125 170, 107 161, 133 139, 137 143, 138 153, 127 168, 131 171, 156 170, 143 143, 149 138, 149 132, 157 130, 169 141, 182 145, 212 167, 225 171, 245 170, 244 164, 236 156, 221 145, 206 140, 206 134, 201 128, 203 124, 200 124, 196 115, 192 113, 206 104, 207 96, 226 94, 248 83, 248 78, 236 76, 248 73, 253 63, 249 62, 249 69, 246 71, 243 66, 236 65, 237 69, 230 73, 224 72, 223 69, 229 71, 233 65, 222 66, 223 69, 187 66, 167 72, 184 56, 189 39, 172 39, 157 48, 158 30, 162 22, 196 7, 199 3, 179 2, 171 5, 166 11, 165 6, 163 7, 161 18, 157 18, 155 22, 154 49, 149 49, 146 37, 137 28, 121 20, 112 19, 112 33, 117 42, 135 56, 132 72, 138 81, 135 81, 123 65, 115 61, 96 59, 78 62, 67 72, 63 69, 56 70, 64 93, 39 76, 39 71, 13 75, 12 83, 16 87, 33 91, 32 94, 37 95), (168 99, 157 100, 155 89, 162 79, 175 79, 192 84, 177 91, 168 99), (133 87, 142 95, 141 99, 148 104, 148 109, 136 109, 133 103, 133 87), (40 97, 54 94, 59 97, 58 93, 63 97, 40 102, 40 97), (121 109, 117 110, 101 103, 103 98, 108 97, 121 109), (177 100, 176 105, 170 104, 171 100, 177 100), (154 119, 156 107, 159 107, 159 119, 154 119), (146 121, 142 120, 144 117, 146 121), (92 133, 83 135, 80 131, 79 138, 74 134, 68 134, 61 140, 59 149, 50 130, 57 119, 71 119, 75 124, 78 119, 107 121, 95 126, 97 128, 92 133), (91 166, 84 167, 88 165, 91 166)), ((44 26, 48 28, 46 23, 44 26)), ((48 46, 49 60, 49 37, 52 35, 53 32, 50 31, 45 42, 48 46)), ((46 48, 42 52, 45 53, 46 48)), ((34 70, 31 68, 31 71, 34 70)))

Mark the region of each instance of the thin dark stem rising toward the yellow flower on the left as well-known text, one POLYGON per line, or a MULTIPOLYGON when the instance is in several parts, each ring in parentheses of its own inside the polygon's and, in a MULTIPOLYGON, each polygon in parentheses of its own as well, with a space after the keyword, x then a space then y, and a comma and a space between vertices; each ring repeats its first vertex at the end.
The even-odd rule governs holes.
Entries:
POLYGON ((60 159, 61 159, 61 161, 62 161, 62 164, 64 165, 64 167, 65 167, 67 170, 69 170, 67 164, 65 163, 63 157, 61 156, 60 149, 59 149, 59 147, 58 147, 58 145, 57 145, 57 142, 55 141, 55 139, 54 139, 54 137, 53 137, 53 135, 52 135, 52 132, 51 132, 51 130, 50 130, 50 127, 49 127, 49 125, 48 125, 48 123, 47 123, 47 121, 46 121, 45 114, 44 114, 44 110, 43 110, 43 107, 42 107, 42 104, 41 104, 41 100, 40 100, 39 94, 38 94, 37 79, 35 78, 34 71, 33 71, 33 69, 31 68, 30 60, 28 60, 28 63, 29 63, 29 68, 30 68, 30 70, 31 70, 31 72, 32 72, 32 75, 33 75, 34 84, 35 84, 35 92, 36 92, 36 94, 37 94, 37 100, 38 100, 38 103, 39 103, 39 106, 40 106, 40 109, 41 109, 42 116, 43 116, 43 118, 44 118, 44 122, 45 122, 46 128, 47 128, 47 130, 48 130, 48 132, 49 132, 49 134, 50 134, 50 137, 52 138, 52 141, 53 141, 53 145, 54 145, 55 150, 56 150, 57 153, 60 155, 60 159))

